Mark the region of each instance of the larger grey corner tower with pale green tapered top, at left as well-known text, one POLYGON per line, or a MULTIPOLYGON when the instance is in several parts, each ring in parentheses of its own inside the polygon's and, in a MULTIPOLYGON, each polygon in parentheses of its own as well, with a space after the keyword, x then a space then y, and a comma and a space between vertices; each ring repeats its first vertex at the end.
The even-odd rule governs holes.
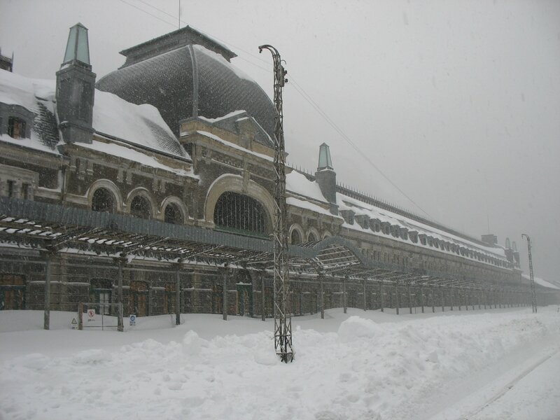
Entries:
POLYGON ((64 61, 57 71, 57 115, 66 143, 91 143, 95 73, 90 64, 87 28, 70 28, 64 61))

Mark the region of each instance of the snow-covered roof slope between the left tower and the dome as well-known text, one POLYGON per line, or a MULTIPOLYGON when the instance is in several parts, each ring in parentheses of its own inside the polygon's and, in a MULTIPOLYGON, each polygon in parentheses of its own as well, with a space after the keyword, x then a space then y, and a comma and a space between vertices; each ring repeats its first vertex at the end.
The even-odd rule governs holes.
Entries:
POLYGON ((131 144, 190 158, 165 123, 160 111, 149 104, 135 105, 116 94, 95 90, 93 128, 100 134, 131 144))

